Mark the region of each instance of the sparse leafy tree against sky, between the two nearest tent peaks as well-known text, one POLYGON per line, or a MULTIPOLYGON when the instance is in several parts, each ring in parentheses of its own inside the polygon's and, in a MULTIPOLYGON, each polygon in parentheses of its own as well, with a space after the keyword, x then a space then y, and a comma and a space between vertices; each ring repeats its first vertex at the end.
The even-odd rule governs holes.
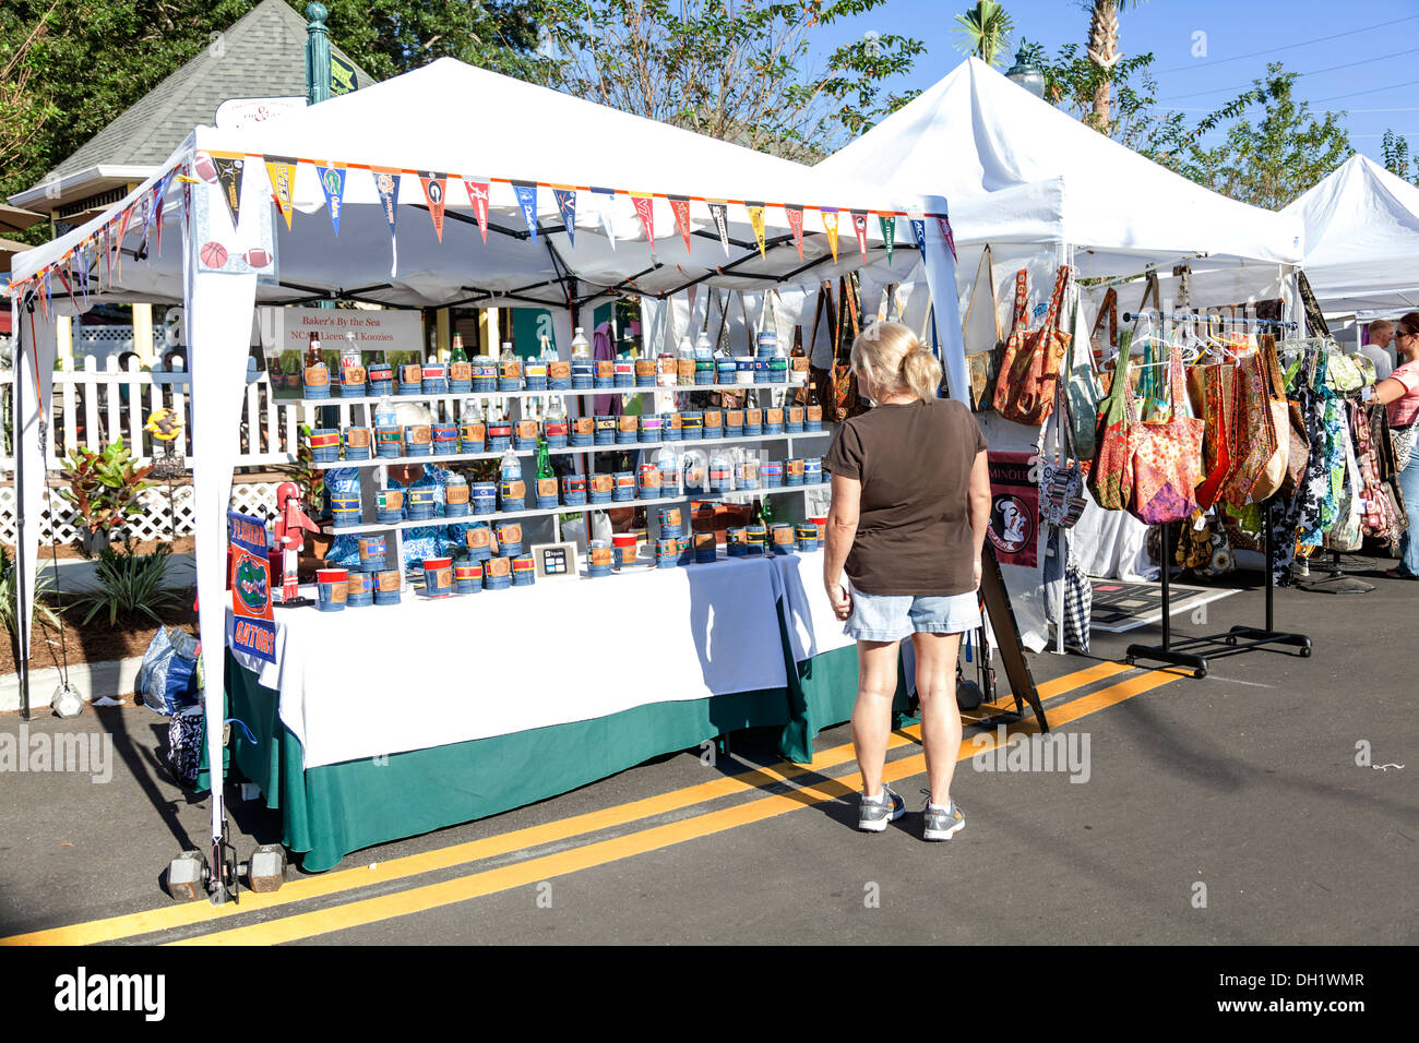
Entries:
POLYGON ((884 81, 918 40, 870 33, 822 68, 822 30, 885 0, 543 0, 549 87, 788 159, 815 160, 915 92, 884 81))

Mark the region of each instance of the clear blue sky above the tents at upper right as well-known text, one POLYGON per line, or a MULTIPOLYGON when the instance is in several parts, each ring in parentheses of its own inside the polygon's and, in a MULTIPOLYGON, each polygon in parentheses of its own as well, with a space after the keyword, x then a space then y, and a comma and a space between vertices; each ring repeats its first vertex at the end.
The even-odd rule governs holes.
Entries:
MULTIPOLYGON (((971 0, 888 0, 832 27, 827 44, 868 30, 927 43, 910 87, 925 88, 964 58, 952 28, 971 0)), ((1084 44, 1088 14, 1076 0, 1005 0, 1016 35, 1054 54, 1084 44)), ((1386 128, 1419 150, 1419 0, 1149 0, 1121 17, 1125 55, 1152 51, 1162 108, 1200 118, 1240 94, 1267 61, 1304 72, 1297 96, 1315 112, 1345 111, 1357 150, 1379 159, 1386 128), (1381 24, 1392 23, 1392 24, 1381 24), (1196 33, 1205 37, 1195 37, 1196 33), (1195 57, 1195 40, 1206 45, 1195 57), (1196 112, 1191 112, 1196 109, 1196 112)))

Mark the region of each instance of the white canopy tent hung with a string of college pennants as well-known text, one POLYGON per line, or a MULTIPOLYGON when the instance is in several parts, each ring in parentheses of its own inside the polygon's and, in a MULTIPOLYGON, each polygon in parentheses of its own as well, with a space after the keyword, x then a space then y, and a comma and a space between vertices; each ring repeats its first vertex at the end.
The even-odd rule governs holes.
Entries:
MULTIPOLYGON (((216 650, 226 644, 226 511, 257 304, 356 299, 392 307, 546 307, 565 356, 576 309, 622 294, 664 299, 700 284, 763 289, 836 277, 864 263, 884 263, 878 216, 895 220, 921 213, 927 220, 920 250, 911 226, 902 221, 890 267, 907 274, 924 258, 927 280, 938 289, 939 324, 944 331, 959 329, 952 257, 929 220, 945 213, 945 200, 897 196, 448 58, 245 131, 199 126, 162 170, 163 176, 139 186, 108 213, 14 260, 11 314, 21 332, 14 368, 16 444, 17 456, 35 461, 17 475, 17 485, 21 517, 37 519, 55 316, 82 312, 94 299, 183 304, 192 370, 199 626, 209 649, 206 707, 213 765, 221 763, 223 683, 216 650), (237 221, 223 202, 224 183, 214 173, 214 158, 241 160, 237 221), (265 160, 272 158, 294 166, 289 230, 271 204, 265 160), (318 167, 339 166, 345 177, 336 234, 318 167), (370 167, 399 176, 400 206, 387 211, 394 216, 397 263, 370 167), (427 213, 430 199, 420 172, 446 179, 441 241, 427 213), (170 173, 180 177, 166 179, 170 173), (485 243, 460 180, 490 182, 485 243), (524 192, 535 192, 535 243, 518 183, 524 192), (159 184, 166 187, 162 255, 145 221, 159 184), (575 244, 553 187, 575 190, 575 244), (641 206, 653 214, 654 247, 634 196, 650 200, 641 206), (688 253, 673 200, 688 207, 688 253), (728 247, 711 210, 711 203, 721 202, 727 206, 728 247), (761 206, 762 254, 749 210, 761 206), (806 207, 807 216, 802 258, 789 217, 789 209, 799 207, 806 207), (863 221, 866 251, 858 248, 853 210, 870 216, 863 221), (823 221, 839 214, 841 240, 834 260, 823 221), (108 245, 119 248, 121 265, 105 260, 114 257, 108 245), (84 270, 87 292, 79 278, 84 270)), ((942 355, 952 386, 964 387, 959 339, 948 341, 942 355)), ((21 650, 28 647, 37 543, 38 524, 23 526, 21 650)), ((213 790, 217 837, 220 786, 213 790)))

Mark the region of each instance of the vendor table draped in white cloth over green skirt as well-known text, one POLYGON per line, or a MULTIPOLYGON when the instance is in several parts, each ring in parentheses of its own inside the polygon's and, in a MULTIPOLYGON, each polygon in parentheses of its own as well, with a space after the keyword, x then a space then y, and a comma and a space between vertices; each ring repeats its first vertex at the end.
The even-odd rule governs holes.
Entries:
POLYGON ((820 552, 277 619, 280 667, 227 657, 231 759, 311 871, 744 728, 807 762, 857 691, 820 552))

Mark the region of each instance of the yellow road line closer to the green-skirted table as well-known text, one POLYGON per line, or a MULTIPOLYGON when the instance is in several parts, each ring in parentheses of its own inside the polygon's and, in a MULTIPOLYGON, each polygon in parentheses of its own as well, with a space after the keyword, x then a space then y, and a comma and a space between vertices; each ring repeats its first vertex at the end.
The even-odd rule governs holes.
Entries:
MULTIPOLYGON (((1098 663, 1087 667, 1086 670, 1078 670, 1073 674, 1066 674, 1040 684, 1040 698, 1060 695, 1127 670, 1128 667, 1120 663, 1098 663)), ((888 749, 910 745, 912 741, 920 739, 920 727, 917 725, 904 728, 901 732, 893 734, 888 742, 888 749)), ((94 945, 96 942, 132 938, 135 935, 152 934, 155 931, 170 931, 180 927, 190 927, 193 924, 236 917, 245 912, 277 908, 297 901, 322 898, 332 894, 341 894, 342 891, 403 880, 421 873, 451 868, 470 861, 478 861, 499 854, 508 854, 511 851, 519 851, 528 847, 538 847, 541 844, 568 840, 575 836, 593 833, 613 826, 623 826, 629 822, 647 819, 656 815, 666 815, 697 803, 717 800, 722 796, 738 793, 745 789, 759 789, 773 782, 796 779, 809 772, 822 772, 827 768, 851 761, 853 756, 854 752, 851 744, 843 744, 816 754, 812 763, 806 766, 776 763, 768 768, 752 769, 736 775, 719 776, 711 779, 710 782, 695 783, 694 786, 685 786, 683 789, 671 790, 670 793, 661 793, 641 800, 631 800, 614 807, 587 812, 586 815, 575 815, 572 817, 559 819, 541 826, 529 826, 526 829, 518 829, 492 837, 482 837, 480 840, 453 844, 434 851, 421 851, 419 854, 390 859, 389 861, 377 863, 375 868, 360 866, 358 868, 322 873, 316 877, 301 877, 284 884, 280 891, 270 891, 265 894, 245 891, 243 893, 241 903, 238 905, 211 905, 204 901, 184 903, 182 905, 162 905, 159 908, 143 910, 140 912, 128 912, 84 924, 47 928, 43 931, 13 935, 10 938, 0 938, 0 945, 94 945)))

